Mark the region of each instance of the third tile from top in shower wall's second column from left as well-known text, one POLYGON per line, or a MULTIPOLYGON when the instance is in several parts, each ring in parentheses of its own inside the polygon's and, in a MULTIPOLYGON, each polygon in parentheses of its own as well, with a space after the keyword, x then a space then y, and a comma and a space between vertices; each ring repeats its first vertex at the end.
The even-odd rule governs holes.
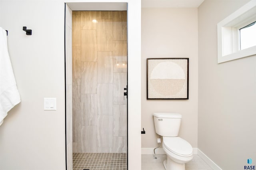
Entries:
POLYGON ((97 93, 97 63, 81 63, 81 93, 97 93))

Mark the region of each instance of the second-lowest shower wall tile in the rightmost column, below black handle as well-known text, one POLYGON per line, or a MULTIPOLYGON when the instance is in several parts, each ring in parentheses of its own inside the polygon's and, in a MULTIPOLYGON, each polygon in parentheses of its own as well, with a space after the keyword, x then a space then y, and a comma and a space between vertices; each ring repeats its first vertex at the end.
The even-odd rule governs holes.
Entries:
POLYGON ((114 136, 127 134, 127 105, 114 105, 114 136))

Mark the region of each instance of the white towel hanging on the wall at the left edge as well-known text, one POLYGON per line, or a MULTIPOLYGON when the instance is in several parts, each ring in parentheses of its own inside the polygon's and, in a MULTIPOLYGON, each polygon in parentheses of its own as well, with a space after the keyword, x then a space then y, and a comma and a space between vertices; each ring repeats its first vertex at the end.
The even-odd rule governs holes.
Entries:
POLYGON ((0 27, 0 126, 8 111, 18 103, 20 103, 20 94, 8 53, 7 34, 0 27))

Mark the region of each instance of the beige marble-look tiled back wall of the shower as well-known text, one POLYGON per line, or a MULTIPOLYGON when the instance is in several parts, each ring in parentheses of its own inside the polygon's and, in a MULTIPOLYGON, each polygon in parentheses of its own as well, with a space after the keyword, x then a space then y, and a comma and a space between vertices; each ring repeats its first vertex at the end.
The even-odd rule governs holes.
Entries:
POLYGON ((126 152, 126 11, 72 12, 73 152, 126 152))

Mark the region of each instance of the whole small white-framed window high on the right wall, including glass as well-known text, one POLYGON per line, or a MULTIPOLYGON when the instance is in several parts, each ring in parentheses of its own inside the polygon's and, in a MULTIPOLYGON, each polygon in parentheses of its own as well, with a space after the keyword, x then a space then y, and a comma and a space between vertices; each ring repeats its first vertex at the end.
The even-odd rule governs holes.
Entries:
POLYGON ((217 24, 218 63, 256 54, 256 0, 217 24))

